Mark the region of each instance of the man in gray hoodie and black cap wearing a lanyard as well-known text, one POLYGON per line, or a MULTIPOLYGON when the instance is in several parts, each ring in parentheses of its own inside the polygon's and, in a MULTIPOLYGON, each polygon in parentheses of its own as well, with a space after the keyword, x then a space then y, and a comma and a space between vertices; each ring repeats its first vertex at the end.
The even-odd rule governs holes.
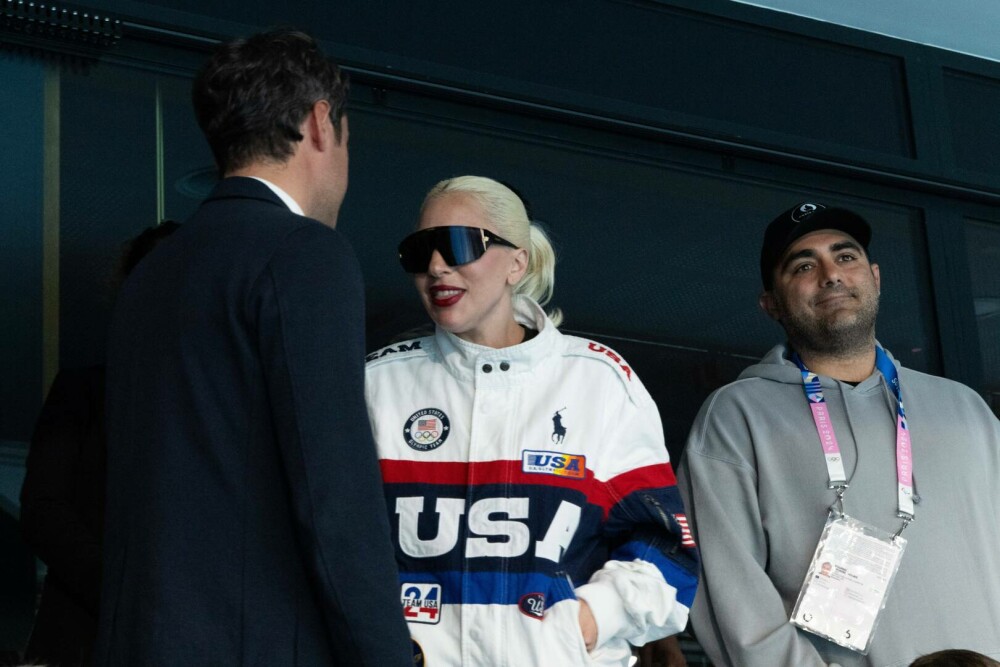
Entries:
POLYGON ((878 344, 870 239, 860 216, 822 204, 768 226, 759 304, 787 342, 712 394, 688 439, 679 485, 702 554, 691 620, 717 667, 1000 658, 1000 423, 971 389, 878 344), (890 536, 905 527, 866 655, 789 621, 807 574, 831 569, 811 570, 831 506, 890 536))

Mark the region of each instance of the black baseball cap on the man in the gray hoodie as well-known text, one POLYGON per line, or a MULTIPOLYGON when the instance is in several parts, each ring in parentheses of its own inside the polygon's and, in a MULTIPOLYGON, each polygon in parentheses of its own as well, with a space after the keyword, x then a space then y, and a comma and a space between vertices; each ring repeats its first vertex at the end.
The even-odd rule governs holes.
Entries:
POLYGON ((860 215, 846 208, 831 208, 816 202, 796 204, 772 220, 764 232, 764 243, 760 247, 760 279, 764 289, 774 287, 774 269, 788 246, 820 229, 836 229, 850 234, 868 254, 872 228, 860 215))

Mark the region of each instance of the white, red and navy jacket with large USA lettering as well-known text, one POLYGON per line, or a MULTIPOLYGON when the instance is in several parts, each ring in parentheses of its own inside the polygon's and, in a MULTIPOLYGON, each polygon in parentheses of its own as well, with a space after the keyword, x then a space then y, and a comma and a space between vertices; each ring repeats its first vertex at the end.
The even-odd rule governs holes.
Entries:
POLYGON ((530 299, 515 310, 539 332, 520 345, 439 329, 368 356, 417 664, 627 665, 629 642, 684 628, 697 586, 659 414, 614 351, 561 334, 530 299))

